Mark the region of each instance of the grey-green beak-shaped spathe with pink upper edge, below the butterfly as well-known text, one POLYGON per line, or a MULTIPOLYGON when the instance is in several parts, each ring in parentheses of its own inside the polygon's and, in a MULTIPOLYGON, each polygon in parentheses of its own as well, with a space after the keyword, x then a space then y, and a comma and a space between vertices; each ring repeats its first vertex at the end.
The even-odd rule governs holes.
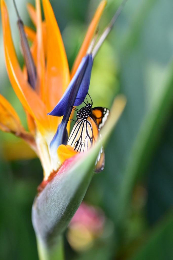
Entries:
MULTIPOLYGON (((125 106, 126 99, 116 97, 110 116, 100 131, 103 145, 112 132, 125 106)), ((78 209, 93 176, 93 168, 101 142, 86 153, 80 153, 64 162, 57 175, 35 198, 32 207, 32 223, 39 241, 40 259, 54 259, 54 251, 59 244, 59 236, 78 209), (43 257, 47 254, 47 258, 43 257), (43 256, 41 256, 43 255, 43 256)))

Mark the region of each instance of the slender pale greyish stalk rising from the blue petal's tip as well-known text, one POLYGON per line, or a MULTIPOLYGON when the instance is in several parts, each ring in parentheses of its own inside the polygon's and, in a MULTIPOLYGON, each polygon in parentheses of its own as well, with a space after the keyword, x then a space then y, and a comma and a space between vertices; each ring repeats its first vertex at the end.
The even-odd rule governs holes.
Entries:
POLYGON ((106 39, 107 35, 109 34, 110 30, 112 29, 112 27, 114 26, 117 18, 119 17, 119 15, 121 14, 122 9, 124 8, 124 5, 126 4, 127 0, 123 0, 122 3, 120 4, 118 10, 116 11, 115 15, 113 16, 112 20, 110 21, 109 25, 106 27, 106 29, 103 31, 102 35, 100 36, 98 42, 96 43, 93 51, 92 51, 92 56, 93 58, 95 57, 96 53, 98 52, 98 50, 100 49, 102 43, 104 42, 104 40, 106 39))

